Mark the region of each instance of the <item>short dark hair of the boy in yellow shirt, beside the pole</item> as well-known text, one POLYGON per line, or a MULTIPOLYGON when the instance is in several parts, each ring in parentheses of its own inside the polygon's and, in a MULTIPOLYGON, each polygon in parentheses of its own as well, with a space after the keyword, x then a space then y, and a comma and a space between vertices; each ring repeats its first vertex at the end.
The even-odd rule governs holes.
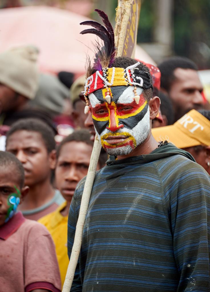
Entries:
MULTIPOLYGON (((90 140, 91 134, 86 129, 81 130, 75 130, 72 134, 68 135, 66 138, 63 139, 63 141, 58 145, 56 149, 56 158, 58 159, 60 155, 61 148, 63 145, 65 145, 68 142, 76 141, 76 142, 84 142, 88 145, 91 145, 93 147, 93 141, 90 140)), ((104 152, 103 149, 101 149, 100 155, 99 155, 99 165, 100 167, 104 166, 107 161, 107 153, 104 152)))

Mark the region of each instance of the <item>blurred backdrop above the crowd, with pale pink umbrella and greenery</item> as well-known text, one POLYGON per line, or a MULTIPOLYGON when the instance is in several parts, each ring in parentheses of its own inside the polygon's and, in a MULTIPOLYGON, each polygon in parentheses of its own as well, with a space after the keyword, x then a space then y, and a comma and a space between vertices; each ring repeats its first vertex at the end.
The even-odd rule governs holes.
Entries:
MULTIPOLYGON (((117 0, 1 0, 0 52, 33 44, 40 50, 39 69, 84 74, 86 54, 93 56, 94 36, 81 36, 79 22, 101 21, 99 8, 115 25, 117 0)), ((171 55, 193 60, 210 98, 210 1, 142 0, 136 58, 158 64, 171 55)))

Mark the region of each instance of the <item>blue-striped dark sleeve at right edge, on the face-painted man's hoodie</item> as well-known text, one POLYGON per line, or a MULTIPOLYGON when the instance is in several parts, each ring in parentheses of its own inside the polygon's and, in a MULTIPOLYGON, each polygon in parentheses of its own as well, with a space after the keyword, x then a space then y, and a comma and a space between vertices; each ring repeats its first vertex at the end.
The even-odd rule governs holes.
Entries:
MULTIPOLYGON (((166 186, 170 198, 174 257, 180 274, 177 292, 210 291, 209 286, 209 175, 198 164, 180 169, 166 186), (175 191, 174 191, 175 190, 175 191)), ((166 193, 167 193, 166 192, 166 193)))

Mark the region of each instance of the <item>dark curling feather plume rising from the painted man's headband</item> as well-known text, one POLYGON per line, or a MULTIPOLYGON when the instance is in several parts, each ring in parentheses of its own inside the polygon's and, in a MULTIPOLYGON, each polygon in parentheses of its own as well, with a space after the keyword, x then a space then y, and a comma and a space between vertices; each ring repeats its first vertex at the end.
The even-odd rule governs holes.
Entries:
POLYGON ((93 28, 91 29, 84 29, 81 34, 95 34, 98 36, 104 43, 104 46, 96 41, 95 46, 95 59, 93 65, 91 65, 91 60, 87 58, 87 65, 86 65, 86 76, 89 77, 93 70, 102 70, 112 65, 114 62, 114 57, 116 54, 116 48, 114 44, 114 29, 108 19, 106 13, 99 9, 95 9, 95 11, 100 15, 103 20, 103 25, 96 21, 84 21, 81 22, 81 25, 90 25, 93 28))

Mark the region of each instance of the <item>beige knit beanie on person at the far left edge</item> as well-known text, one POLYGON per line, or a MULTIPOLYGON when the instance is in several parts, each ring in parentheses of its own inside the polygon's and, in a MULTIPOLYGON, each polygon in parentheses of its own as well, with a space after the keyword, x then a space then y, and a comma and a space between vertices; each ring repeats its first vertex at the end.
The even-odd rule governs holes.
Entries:
POLYGON ((0 53, 0 83, 33 99, 38 88, 37 57, 33 46, 20 46, 0 53))

